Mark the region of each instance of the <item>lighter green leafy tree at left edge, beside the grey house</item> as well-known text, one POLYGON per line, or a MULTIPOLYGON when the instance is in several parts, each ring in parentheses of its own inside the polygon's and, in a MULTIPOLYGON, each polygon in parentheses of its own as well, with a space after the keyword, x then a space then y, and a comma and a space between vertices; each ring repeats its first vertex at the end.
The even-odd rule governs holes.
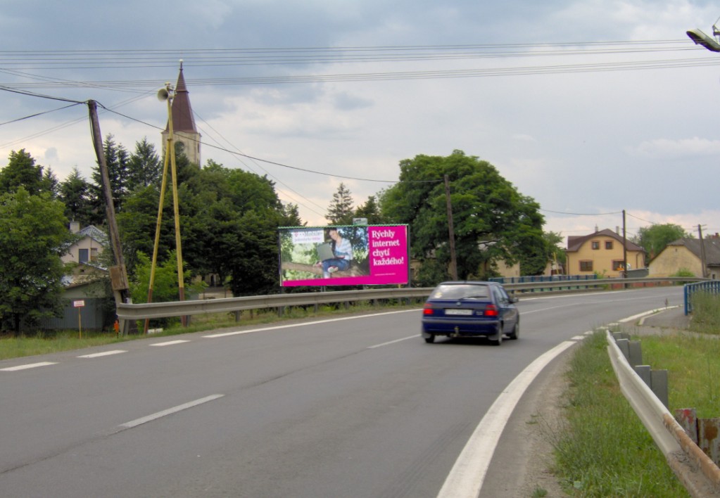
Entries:
POLYGON ((62 202, 23 186, 0 195, 0 327, 19 332, 60 309, 71 242, 62 202))

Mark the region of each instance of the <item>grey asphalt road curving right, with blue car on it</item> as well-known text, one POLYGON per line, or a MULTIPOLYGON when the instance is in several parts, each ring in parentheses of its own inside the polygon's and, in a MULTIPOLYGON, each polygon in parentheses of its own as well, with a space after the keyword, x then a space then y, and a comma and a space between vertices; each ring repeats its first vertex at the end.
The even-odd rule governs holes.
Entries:
MULTIPOLYGON (((413 310, 0 361, 0 496, 437 497, 536 358, 666 299, 682 289, 524 297, 500 347, 428 345, 413 310)), ((462 465, 482 496, 521 496, 533 392, 462 465)))

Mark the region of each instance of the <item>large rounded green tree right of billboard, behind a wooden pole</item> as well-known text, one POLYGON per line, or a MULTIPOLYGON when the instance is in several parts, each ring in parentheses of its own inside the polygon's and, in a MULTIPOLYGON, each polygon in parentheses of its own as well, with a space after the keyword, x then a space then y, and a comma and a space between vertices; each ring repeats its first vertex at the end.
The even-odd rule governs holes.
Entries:
POLYGON ((460 279, 487 279, 503 260, 541 273, 549 248, 539 204, 485 160, 455 150, 447 157, 417 155, 400 161, 400 182, 384 191, 386 222, 410 225, 411 255, 421 261, 418 285, 449 278, 449 191, 460 279))

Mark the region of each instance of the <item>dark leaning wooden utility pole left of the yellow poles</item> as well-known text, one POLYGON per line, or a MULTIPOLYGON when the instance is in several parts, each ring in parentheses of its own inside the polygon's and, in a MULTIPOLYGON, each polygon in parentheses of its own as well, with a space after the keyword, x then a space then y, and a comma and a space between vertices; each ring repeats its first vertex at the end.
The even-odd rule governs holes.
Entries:
MULTIPOLYGON (((122 245, 120 244, 120 232, 117 231, 117 222, 115 221, 115 205, 112 202, 112 188, 110 186, 110 177, 107 172, 107 162, 105 161, 105 153, 102 150, 102 134, 100 133, 100 124, 97 118, 97 103, 94 100, 88 101, 90 112, 90 124, 92 132, 92 141, 95 148, 95 155, 100 168, 100 179, 102 183, 102 193, 105 199, 105 216, 107 217, 107 230, 110 235, 110 244, 112 245, 112 253, 115 259, 115 266, 109 268, 110 281, 112 283, 112 292, 115 298, 115 304, 129 302, 130 286, 127 284, 127 270, 125 269, 125 258, 122 257, 122 245)), ((119 319, 118 325, 122 335, 127 335, 128 323, 126 320, 119 319)))

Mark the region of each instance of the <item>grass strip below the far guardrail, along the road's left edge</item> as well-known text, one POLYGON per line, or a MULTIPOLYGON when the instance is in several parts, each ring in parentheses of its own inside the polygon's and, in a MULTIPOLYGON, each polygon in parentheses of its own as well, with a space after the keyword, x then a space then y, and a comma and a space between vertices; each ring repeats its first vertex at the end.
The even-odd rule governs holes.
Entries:
MULTIPOLYGON (((384 302, 382 309, 410 309, 420 304, 400 304, 398 302, 384 302)), ((243 312, 240 321, 235 321, 233 313, 200 314, 191 317, 187 327, 178 323, 163 327, 163 331, 154 333, 152 337, 163 337, 168 335, 179 335, 191 332, 202 332, 204 330, 217 330, 226 327, 240 327, 251 325, 266 325, 287 320, 301 320, 305 318, 328 317, 336 314, 348 314, 358 312, 371 312, 379 307, 372 302, 356 302, 345 307, 343 304, 337 306, 325 305, 318 307, 292 307, 286 308, 282 317, 276 310, 261 310, 255 312, 243 312)), ((150 328, 154 326, 150 325, 150 328)), ((89 348, 92 346, 123 343, 128 340, 147 338, 144 335, 143 322, 138 322, 139 334, 118 336, 114 332, 94 332, 83 330, 60 330, 52 332, 26 333, 14 337, 9 334, 0 334, 0 360, 9 358, 20 358, 23 356, 44 355, 58 353, 60 351, 89 348)))

